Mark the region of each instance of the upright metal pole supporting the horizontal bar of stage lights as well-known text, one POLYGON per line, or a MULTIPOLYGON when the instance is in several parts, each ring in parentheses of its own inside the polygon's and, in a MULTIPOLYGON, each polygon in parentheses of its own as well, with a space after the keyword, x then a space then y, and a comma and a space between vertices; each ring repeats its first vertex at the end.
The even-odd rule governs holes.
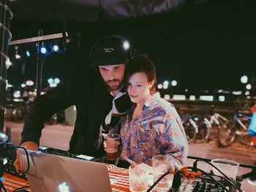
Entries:
MULTIPOLYGON (((38 36, 42 36, 43 31, 38 31, 38 36)), ((37 42, 37 98, 41 95, 41 89, 42 89, 42 65, 43 65, 43 55, 41 53, 41 47, 43 45, 43 42, 37 42)))

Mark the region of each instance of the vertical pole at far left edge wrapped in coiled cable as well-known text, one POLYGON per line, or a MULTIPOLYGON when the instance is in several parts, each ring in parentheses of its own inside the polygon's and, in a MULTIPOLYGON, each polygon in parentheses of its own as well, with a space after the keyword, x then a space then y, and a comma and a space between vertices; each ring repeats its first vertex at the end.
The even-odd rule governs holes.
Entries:
POLYGON ((4 129, 4 112, 7 88, 7 61, 9 58, 8 42, 12 38, 10 32, 10 20, 12 19, 12 11, 8 7, 10 1, 0 0, 0 132, 4 129))

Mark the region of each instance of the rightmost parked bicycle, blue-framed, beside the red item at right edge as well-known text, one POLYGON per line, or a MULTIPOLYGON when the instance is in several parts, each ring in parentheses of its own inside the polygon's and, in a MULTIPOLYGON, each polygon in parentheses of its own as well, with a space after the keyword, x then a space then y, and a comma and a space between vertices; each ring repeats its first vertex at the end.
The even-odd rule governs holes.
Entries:
POLYGON ((219 128, 218 142, 220 147, 227 147, 235 138, 244 145, 255 147, 248 133, 251 117, 235 113, 233 120, 227 121, 219 128))

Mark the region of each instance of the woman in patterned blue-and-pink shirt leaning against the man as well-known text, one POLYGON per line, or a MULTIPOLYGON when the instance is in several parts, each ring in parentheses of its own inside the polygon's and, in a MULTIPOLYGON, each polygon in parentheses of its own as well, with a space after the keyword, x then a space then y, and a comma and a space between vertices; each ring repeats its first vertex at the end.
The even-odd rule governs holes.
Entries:
POLYGON ((122 161, 151 164, 154 155, 172 155, 180 167, 187 158, 187 137, 175 107, 157 93, 154 64, 146 55, 129 61, 127 93, 135 106, 121 126, 122 161))

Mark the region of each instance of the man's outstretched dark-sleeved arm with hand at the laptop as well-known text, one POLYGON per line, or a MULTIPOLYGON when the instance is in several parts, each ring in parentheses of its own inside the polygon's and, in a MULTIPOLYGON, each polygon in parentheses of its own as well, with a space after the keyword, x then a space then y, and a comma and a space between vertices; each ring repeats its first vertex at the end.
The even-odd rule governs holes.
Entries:
MULTIPOLYGON (((67 85, 61 85, 59 88, 40 96, 39 99, 34 101, 23 127, 21 146, 27 150, 38 150, 39 139, 45 120, 50 118, 55 112, 64 110, 76 103, 77 86, 77 78, 74 77, 67 85)), ((19 153, 15 160, 15 167, 17 170, 21 170, 19 153)))

